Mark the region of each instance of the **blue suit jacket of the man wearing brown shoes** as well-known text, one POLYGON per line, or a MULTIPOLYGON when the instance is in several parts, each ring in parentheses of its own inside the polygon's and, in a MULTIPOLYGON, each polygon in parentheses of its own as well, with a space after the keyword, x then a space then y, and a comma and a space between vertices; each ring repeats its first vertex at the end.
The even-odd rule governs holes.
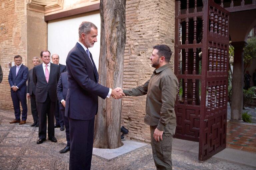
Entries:
MULTIPOLYGON (((17 76, 16 76, 16 66, 11 67, 9 76, 8 76, 8 81, 11 87, 17 86, 19 88, 17 90, 18 93, 26 93, 27 80, 28 80, 28 67, 22 64, 17 73, 17 76)), ((14 91, 11 89, 11 92, 13 93, 14 91)))

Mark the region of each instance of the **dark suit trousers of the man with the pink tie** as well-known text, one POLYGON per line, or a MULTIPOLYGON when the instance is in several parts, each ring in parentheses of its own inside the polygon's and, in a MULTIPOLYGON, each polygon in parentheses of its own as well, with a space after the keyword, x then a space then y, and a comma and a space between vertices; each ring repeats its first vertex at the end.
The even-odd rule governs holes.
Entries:
POLYGON ((49 94, 47 94, 46 100, 43 103, 36 102, 37 111, 39 115, 39 139, 46 138, 46 127, 48 118, 48 138, 54 137, 54 112, 56 101, 51 101, 49 94))

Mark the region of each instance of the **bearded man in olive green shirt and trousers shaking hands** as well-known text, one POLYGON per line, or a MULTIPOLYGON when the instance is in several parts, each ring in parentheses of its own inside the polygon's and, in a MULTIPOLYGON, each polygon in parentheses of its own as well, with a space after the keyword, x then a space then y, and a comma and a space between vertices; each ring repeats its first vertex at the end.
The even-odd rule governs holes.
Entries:
POLYGON ((150 125, 151 146, 157 170, 172 169, 172 136, 176 128, 174 104, 178 80, 169 64, 172 55, 167 45, 155 45, 150 56, 156 68, 150 80, 136 88, 123 90, 126 96, 147 94, 144 122, 150 125))

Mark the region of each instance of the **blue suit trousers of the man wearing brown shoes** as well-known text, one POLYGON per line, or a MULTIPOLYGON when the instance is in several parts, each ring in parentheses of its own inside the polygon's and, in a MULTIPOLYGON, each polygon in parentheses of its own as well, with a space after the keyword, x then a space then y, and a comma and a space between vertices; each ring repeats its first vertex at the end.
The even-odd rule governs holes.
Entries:
POLYGON ((13 108, 14 108, 14 114, 15 114, 15 119, 20 120, 20 103, 22 106, 22 120, 26 121, 27 120, 27 98, 26 98, 26 93, 18 93, 16 92, 11 92, 11 97, 12 97, 12 102, 13 102, 13 108))

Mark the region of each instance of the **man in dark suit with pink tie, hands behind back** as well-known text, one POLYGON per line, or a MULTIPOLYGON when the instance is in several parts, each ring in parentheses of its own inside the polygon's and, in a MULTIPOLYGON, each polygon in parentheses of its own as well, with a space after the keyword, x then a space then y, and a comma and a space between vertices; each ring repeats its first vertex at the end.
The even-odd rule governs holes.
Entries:
POLYGON ((42 64, 33 68, 33 81, 36 85, 36 105, 39 115, 39 130, 37 144, 46 140, 46 119, 48 117, 48 139, 57 142, 54 137, 54 112, 57 101, 56 87, 60 77, 58 65, 50 63, 50 52, 40 53, 42 64))

